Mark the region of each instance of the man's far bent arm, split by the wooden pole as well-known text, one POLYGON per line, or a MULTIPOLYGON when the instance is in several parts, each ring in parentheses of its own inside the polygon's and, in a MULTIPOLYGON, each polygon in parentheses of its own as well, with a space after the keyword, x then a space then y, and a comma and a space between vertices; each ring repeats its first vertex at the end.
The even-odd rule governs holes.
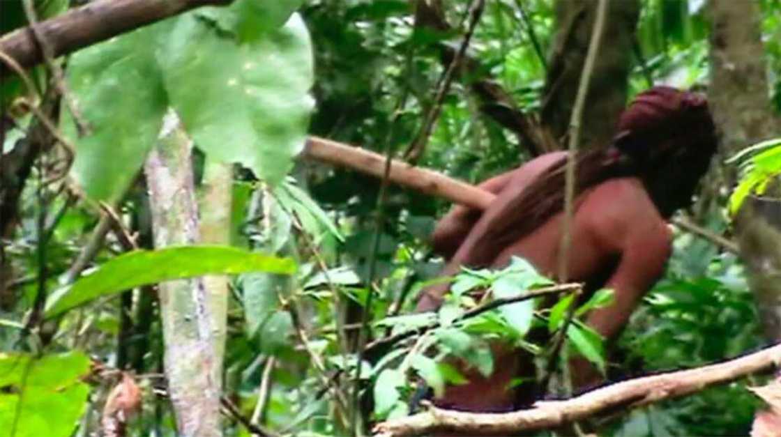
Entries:
MULTIPOLYGON (((494 176, 480 183, 477 187, 481 190, 498 194, 507 187, 516 171, 517 169, 501 173, 501 175, 494 176)), ((469 230, 480 219, 482 213, 483 211, 467 208, 463 205, 455 205, 451 208, 448 214, 444 215, 434 228, 431 236, 431 246, 434 252, 442 255, 447 260, 452 258, 467 234, 469 234, 469 230)))

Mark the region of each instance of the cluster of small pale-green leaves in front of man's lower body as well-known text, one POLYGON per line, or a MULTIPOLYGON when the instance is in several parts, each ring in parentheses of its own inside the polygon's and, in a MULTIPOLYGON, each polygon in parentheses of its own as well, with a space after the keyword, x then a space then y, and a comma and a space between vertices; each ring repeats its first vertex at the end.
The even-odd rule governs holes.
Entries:
MULTIPOLYGON (((504 304, 494 310, 466 318, 470 308, 483 304, 487 297, 507 299, 522 297, 530 291, 554 282, 540 275, 529 262, 512 258, 507 268, 464 271, 455 276, 451 293, 436 313, 411 314, 384 318, 378 327, 391 327, 391 334, 416 331, 430 327, 408 346, 397 348, 374 365, 374 414, 378 418, 392 418, 408 414, 405 394, 412 393, 413 375, 433 389, 434 396, 442 396, 445 385, 468 382, 464 371, 488 377, 494 372, 493 346, 522 348, 532 354, 544 355, 547 345, 536 345, 526 339, 534 326, 553 333, 562 329, 565 314, 575 301, 569 294, 547 309, 539 298, 504 304)), ((602 338, 577 320, 597 307, 610 304, 612 292, 600 290, 585 304, 576 308, 567 338, 577 353, 604 369, 602 338)), ((519 382, 522 383, 522 382, 519 382)))

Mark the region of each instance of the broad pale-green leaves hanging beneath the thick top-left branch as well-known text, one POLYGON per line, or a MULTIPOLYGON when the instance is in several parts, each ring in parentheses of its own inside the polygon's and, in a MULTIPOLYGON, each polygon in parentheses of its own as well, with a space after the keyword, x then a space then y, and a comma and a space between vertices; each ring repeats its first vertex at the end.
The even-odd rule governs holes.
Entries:
POLYGON ((299 3, 241 0, 73 55, 69 82, 92 129, 78 137, 73 123, 65 126, 87 194, 106 201, 124 194, 169 106, 209 157, 241 163, 269 183, 283 179, 312 109, 308 32, 300 16, 287 20, 299 3))

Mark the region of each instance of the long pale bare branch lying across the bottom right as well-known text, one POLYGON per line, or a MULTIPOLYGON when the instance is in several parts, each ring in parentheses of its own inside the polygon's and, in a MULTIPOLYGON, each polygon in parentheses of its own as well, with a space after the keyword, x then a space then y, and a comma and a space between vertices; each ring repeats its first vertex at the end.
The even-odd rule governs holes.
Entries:
POLYGON ((781 364, 781 344, 754 354, 701 368, 630 379, 569 400, 541 401, 529 410, 503 414, 430 410, 376 425, 376 435, 423 435, 458 432, 466 435, 511 435, 555 428, 617 407, 639 407, 696 393, 709 385, 734 381, 781 364))

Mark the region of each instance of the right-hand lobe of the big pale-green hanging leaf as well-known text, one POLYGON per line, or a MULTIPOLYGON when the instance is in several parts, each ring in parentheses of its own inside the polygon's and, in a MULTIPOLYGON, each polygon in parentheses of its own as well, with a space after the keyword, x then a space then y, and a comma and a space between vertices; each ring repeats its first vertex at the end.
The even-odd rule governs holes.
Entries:
POLYGON ((269 183, 284 178, 313 107, 312 48, 300 16, 239 44, 212 20, 186 14, 158 55, 171 105, 198 147, 269 183))

